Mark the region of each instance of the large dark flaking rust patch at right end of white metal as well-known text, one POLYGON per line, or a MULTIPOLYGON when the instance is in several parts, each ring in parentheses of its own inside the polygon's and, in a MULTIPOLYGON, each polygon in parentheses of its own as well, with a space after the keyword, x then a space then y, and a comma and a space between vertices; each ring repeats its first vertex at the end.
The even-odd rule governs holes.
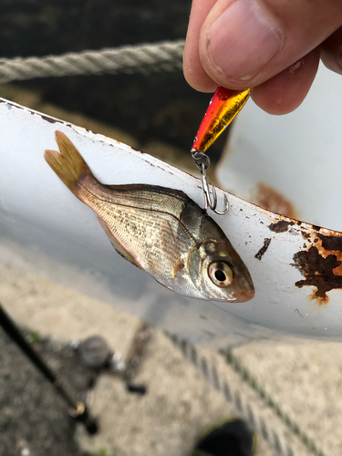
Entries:
POLYGON ((295 285, 299 288, 315 286, 316 291, 310 297, 321 305, 328 303, 327 292, 342 289, 342 233, 324 231, 325 234, 302 232, 311 245, 294 255, 294 265, 305 277, 295 285))

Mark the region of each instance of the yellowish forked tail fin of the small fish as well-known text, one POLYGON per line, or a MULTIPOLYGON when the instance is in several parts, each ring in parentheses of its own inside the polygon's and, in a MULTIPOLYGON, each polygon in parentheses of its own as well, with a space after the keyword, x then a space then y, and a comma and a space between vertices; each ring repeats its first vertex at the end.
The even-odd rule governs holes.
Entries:
MULTIPOLYGON (((56 131, 57 150, 46 150, 44 157, 69 190, 78 196, 78 183, 90 174, 88 164, 82 159, 74 144, 61 131, 56 131)), ((79 196, 78 196, 79 198, 79 196)))

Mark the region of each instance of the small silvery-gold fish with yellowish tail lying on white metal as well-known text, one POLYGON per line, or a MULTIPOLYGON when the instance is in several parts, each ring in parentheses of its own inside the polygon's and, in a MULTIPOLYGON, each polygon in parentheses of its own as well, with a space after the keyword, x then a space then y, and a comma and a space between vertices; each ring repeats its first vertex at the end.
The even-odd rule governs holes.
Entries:
POLYGON ((74 144, 56 131, 45 159, 98 217, 110 243, 161 285, 197 299, 243 303, 254 285, 217 223, 180 190, 148 184, 104 185, 74 144))

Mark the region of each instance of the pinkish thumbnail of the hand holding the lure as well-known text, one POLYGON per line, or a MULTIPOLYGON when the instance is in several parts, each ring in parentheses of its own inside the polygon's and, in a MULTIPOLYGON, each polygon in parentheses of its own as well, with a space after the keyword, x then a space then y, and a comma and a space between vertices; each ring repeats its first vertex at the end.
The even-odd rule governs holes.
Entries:
POLYGON ((207 37, 212 64, 233 79, 253 78, 282 46, 273 18, 249 0, 233 2, 212 24, 207 37))

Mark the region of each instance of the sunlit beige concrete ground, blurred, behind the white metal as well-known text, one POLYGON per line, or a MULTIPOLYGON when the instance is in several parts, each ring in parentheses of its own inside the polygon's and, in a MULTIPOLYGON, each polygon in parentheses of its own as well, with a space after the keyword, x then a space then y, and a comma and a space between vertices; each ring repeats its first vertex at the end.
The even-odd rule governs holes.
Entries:
MULTIPOLYGON (((0 96, 137 146, 130 135, 112 127, 56 107, 43 106, 39 95, 33 92, 5 86, 1 88, 0 96)), ((167 145, 161 147, 158 144, 156 147, 151 144, 150 150, 145 150, 164 150, 165 156, 178 164, 179 155, 174 150, 171 152, 167 145)), ((181 167, 193 171, 192 159, 189 157, 189 163, 182 162, 181 167)), ((18 323, 44 337, 68 344, 71 340, 98 334, 105 337, 109 346, 120 352, 123 359, 130 358, 141 325, 135 316, 12 264, 4 264, 1 258, 0 302, 18 323)), ((222 355, 205 347, 199 349, 213 360, 220 377, 229 380, 254 414, 267 426, 285 435, 297 456, 315 454, 292 435, 275 411, 246 384, 241 374, 224 361, 222 355)), ((253 372, 271 397, 326 450, 326 454, 342 454, 339 433, 342 426, 341 344, 292 339, 257 342, 233 348, 233 355, 244 368, 253 372)), ((92 411, 98 415, 101 430, 96 436, 88 437, 78 427, 75 439, 80 451, 102 456, 185 456, 208 426, 225 417, 239 415, 233 403, 214 389, 182 356, 179 347, 175 347, 158 328, 152 330, 140 361, 134 383, 147 387, 144 396, 129 393, 118 376, 105 373, 99 376, 89 399, 92 411)), ((13 452, 8 456, 16 454, 34 456, 33 452, 13 452)), ((260 437, 256 454, 273 456, 278 453, 260 437)))

